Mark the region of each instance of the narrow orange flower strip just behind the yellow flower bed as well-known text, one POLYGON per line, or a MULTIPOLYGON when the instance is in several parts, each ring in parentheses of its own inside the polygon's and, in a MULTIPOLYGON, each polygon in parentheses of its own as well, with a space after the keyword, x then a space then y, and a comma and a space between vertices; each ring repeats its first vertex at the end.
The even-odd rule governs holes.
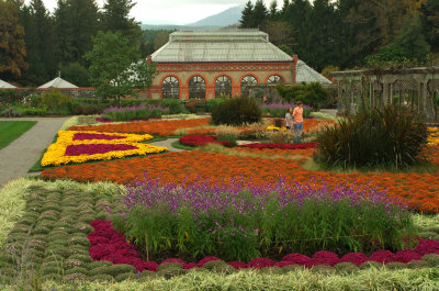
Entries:
POLYGON ((160 136, 172 135, 176 130, 196 127, 209 124, 211 119, 196 120, 158 120, 147 122, 128 122, 89 126, 71 126, 70 131, 95 131, 106 133, 147 133, 160 136))

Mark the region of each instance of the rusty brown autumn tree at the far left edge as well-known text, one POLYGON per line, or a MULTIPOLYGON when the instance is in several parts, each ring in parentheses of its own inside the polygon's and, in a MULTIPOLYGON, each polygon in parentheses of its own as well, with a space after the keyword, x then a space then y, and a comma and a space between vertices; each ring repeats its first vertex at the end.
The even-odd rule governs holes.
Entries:
POLYGON ((27 69, 24 29, 19 23, 19 7, 11 0, 0 0, 0 75, 18 78, 27 69))

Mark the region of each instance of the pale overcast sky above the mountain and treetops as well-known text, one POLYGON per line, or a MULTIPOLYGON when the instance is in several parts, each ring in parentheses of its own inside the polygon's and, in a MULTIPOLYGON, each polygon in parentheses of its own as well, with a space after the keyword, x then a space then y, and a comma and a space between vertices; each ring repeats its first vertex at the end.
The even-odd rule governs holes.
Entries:
MULTIPOLYGON (((31 0, 26 0, 29 3, 31 0)), ((230 7, 244 5, 248 0, 137 0, 132 9, 132 16, 148 24, 189 24, 206 16, 219 13, 230 7)), ((57 0, 43 0, 44 5, 53 12, 57 0)), ((97 0, 102 7, 104 0, 97 0)), ((255 3, 256 0, 252 0, 255 3)), ((271 0, 263 0, 267 8, 271 0)), ((279 7, 282 0, 278 0, 279 7)))

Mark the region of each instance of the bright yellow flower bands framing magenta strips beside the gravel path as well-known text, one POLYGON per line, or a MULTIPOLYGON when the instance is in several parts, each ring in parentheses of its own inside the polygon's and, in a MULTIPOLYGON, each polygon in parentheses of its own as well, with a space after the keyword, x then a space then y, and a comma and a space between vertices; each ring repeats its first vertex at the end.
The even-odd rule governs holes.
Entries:
POLYGON ((137 142, 147 141, 153 138, 151 135, 138 135, 138 134, 113 134, 113 133, 98 133, 98 132, 80 132, 80 131, 60 131, 58 132, 59 137, 55 144, 52 144, 47 152, 44 154, 42 159, 42 166, 59 166, 69 163, 85 163, 88 160, 99 159, 113 159, 123 158, 134 155, 147 155, 156 154, 168 150, 166 147, 151 146, 148 144, 142 144, 137 142), (76 133, 88 133, 88 134, 104 134, 111 136, 126 136, 123 139, 86 139, 86 141, 74 141, 76 133), (66 149, 70 145, 130 145, 137 147, 136 149, 126 150, 112 150, 104 154, 82 154, 79 156, 66 156, 66 149))

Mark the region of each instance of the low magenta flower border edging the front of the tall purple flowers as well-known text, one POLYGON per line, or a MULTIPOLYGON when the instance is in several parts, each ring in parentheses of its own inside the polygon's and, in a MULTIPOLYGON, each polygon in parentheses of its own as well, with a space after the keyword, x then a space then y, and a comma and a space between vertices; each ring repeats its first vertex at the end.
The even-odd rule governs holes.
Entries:
MULTIPOLYGON (((123 234, 117 233, 111 222, 95 220, 90 223, 94 228, 94 232, 90 233, 87 237, 90 240, 90 257, 92 260, 108 260, 113 264, 130 264, 136 268, 137 271, 156 271, 159 264, 155 261, 144 261, 140 255, 137 253, 135 247, 126 242, 123 234)), ((378 261, 381 264, 387 264, 393 261, 398 261, 407 264, 412 260, 419 260, 424 255, 438 254, 439 255, 439 242, 435 239, 418 239, 419 244, 415 249, 403 249, 396 254, 389 250, 378 250, 373 253, 369 258, 362 253, 350 253, 341 258, 337 254, 331 251, 317 251, 311 258, 301 254, 289 254, 282 258, 281 261, 274 262, 268 258, 257 258, 249 262, 243 261, 229 261, 227 262, 235 269, 246 269, 246 268, 264 268, 264 267, 285 267, 291 265, 305 266, 311 268, 316 265, 328 265, 335 266, 339 262, 352 262, 357 266, 362 265, 365 261, 378 261)), ((179 262, 184 269, 190 269, 194 267, 203 267, 204 264, 212 260, 218 260, 217 257, 205 257, 199 262, 184 262, 178 258, 170 258, 161 264, 166 262, 179 262)), ((160 264, 160 265, 161 265, 160 264)))

